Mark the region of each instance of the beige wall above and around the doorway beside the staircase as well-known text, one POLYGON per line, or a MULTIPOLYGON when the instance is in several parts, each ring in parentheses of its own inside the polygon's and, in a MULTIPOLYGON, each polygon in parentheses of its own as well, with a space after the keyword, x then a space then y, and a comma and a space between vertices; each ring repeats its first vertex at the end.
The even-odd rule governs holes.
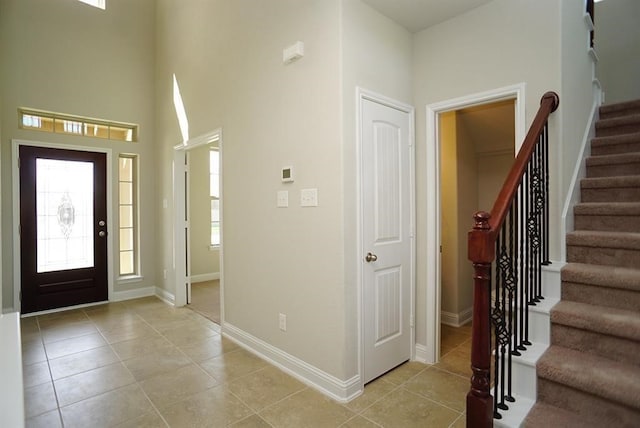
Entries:
MULTIPOLYGON (((528 127, 542 94, 558 90, 560 86, 559 3, 557 0, 494 0, 414 35, 418 260, 425 260, 427 245, 435 245, 433 237, 426 236, 425 232, 428 203, 425 184, 425 107, 469 94, 525 83, 528 127)), ((552 135, 552 138, 556 136, 552 135)), ((558 148, 552 150, 556 153, 558 148)), ((558 166, 554 164, 551 168, 556 171, 558 166)), ((554 195, 557 199, 557 193, 554 195)), ((553 207, 552 212, 554 221, 559 219, 557 206, 553 207)), ((556 245, 559 246, 559 243, 556 245)), ((426 296, 427 269, 432 268, 425 264, 418 265, 419 296, 426 296)), ((424 308, 421 310, 418 307, 416 315, 416 340, 419 344, 425 344, 427 331, 424 308)))

